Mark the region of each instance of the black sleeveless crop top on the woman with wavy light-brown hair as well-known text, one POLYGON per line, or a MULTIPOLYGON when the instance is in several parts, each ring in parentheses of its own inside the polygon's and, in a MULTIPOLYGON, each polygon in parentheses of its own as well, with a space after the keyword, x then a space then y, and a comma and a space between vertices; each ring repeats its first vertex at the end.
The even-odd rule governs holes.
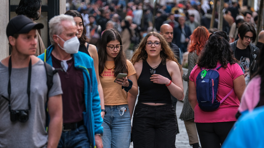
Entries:
MULTIPOLYGON (((171 93, 165 84, 157 84, 150 81, 152 67, 148 65, 147 61, 143 61, 142 72, 138 79, 139 85, 139 102, 141 103, 164 103, 172 104, 171 93)), ((171 80, 171 76, 167 70, 167 66, 160 65, 155 68, 156 73, 171 80)))

